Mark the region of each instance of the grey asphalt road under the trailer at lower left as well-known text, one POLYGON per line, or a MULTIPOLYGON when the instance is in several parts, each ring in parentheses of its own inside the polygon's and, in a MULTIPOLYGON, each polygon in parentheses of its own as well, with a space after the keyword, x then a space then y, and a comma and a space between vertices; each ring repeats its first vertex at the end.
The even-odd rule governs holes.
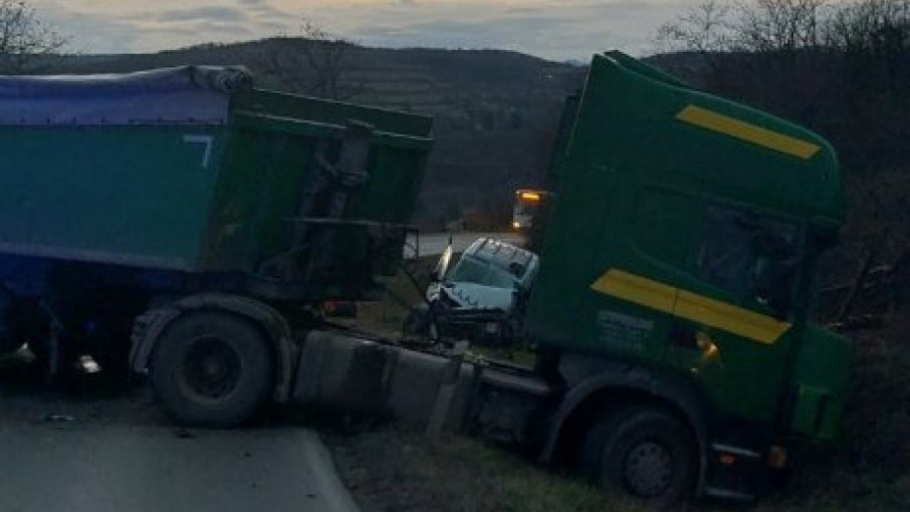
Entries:
POLYGON ((182 430, 147 390, 41 391, 0 372, 3 512, 355 512, 307 428, 182 430))

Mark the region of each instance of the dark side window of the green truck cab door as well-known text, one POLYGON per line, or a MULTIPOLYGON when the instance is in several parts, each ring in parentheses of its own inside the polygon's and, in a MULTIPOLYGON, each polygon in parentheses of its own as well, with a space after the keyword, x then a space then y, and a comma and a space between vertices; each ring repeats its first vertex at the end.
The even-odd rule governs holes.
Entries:
POLYGON ((797 268, 798 232, 786 220, 709 208, 696 273, 743 302, 757 302, 784 316, 797 268))

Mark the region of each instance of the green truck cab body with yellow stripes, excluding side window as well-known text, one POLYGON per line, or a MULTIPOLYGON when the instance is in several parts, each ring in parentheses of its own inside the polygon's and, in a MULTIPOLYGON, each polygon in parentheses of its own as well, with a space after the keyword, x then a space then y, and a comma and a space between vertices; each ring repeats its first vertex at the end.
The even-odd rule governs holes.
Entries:
MULTIPOLYGON (((591 65, 560 182, 531 337, 690 375, 719 410, 772 425, 803 310, 777 320, 763 303, 698 277, 715 229, 706 211, 792 222, 799 241, 836 230, 845 208, 834 150, 804 128, 610 54, 591 65)), ((811 271, 804 262, 801 282, 811 271)))

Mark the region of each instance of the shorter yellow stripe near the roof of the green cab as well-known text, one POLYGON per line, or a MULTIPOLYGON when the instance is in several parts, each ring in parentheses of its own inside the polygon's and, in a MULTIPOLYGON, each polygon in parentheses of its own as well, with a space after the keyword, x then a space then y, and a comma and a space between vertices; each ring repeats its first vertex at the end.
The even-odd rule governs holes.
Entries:
POLYGON ((676 118, 691 125, 739 138, 799 159, 812 159, 822 149, 820 146, 800 138, 777 133, 694 105, 683 108, 676 118))

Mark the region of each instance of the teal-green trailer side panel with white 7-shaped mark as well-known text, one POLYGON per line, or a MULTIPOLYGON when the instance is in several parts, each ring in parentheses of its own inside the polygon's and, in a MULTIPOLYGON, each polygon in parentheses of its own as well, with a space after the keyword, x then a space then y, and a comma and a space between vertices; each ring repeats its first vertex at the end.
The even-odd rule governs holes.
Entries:
POLYGON ((194 269, 222 134, 0 127, 0 251, 194 269))

